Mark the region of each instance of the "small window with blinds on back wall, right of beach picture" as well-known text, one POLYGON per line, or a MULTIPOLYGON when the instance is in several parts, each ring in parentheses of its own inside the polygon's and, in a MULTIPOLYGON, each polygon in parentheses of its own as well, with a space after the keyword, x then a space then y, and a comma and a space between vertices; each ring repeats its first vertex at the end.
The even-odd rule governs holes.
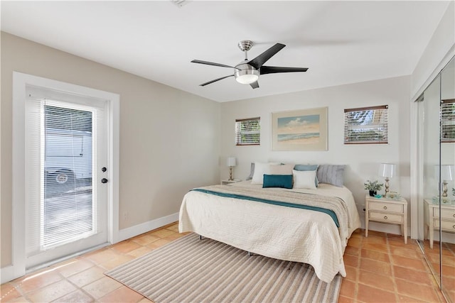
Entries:
POLYGON ((344 143, 388 143, 387 105, 344 110, 344 143))

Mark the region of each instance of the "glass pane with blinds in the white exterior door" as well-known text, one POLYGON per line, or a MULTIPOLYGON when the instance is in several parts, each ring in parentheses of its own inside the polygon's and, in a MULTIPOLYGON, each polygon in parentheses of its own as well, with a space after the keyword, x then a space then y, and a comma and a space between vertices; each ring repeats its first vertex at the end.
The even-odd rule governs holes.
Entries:
POLYGON ((92 199, 92 111, 44 106, 41 246, 96 233, 92 199))

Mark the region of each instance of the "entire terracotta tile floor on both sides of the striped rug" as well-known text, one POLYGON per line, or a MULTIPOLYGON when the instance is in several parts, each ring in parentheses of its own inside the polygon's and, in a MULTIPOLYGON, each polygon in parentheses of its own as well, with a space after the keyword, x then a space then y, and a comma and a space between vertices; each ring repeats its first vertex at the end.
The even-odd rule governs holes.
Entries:
MULTIPOLYGON (((170 224, 32 272, 1 285, 1 302, 151 302, 103 272, 181 236, 170 224)), ((359 229, 344 260, 338 302, 444 302, 415 241, 359 229)))

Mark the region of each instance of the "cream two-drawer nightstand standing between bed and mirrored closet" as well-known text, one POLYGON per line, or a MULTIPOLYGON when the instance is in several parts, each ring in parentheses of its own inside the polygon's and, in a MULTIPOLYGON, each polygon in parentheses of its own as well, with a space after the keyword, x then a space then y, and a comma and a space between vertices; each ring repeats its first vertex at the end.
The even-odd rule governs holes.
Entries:
POLYGON ((407 201, 400 199, 385 199, 365 197, 365 237, 368 237, 368 222, 376 221, 387 224, 400 224, 401 233, 407 244, 407 201))

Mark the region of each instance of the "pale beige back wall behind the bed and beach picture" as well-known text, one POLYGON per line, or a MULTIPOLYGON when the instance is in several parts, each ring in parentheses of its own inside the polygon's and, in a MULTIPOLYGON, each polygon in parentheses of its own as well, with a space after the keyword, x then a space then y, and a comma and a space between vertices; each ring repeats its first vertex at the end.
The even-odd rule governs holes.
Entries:
MULTIPOLYGON (((312 89, 305 92, 281 94, 257 99, 221 104, 221 157, 237 158, 235 177, 245 180, 250 163, 278 161, 294 164, 347 165, 345 185, 354 194, 360 218, 363 219, 365 189, 363 182, 378 176, 381 162, 396 163, 399 176, 390 180, 390 189, 410 197, 410 77, 395 77, 337 87, 312 89), (345 145, 344 109, 363 106, 389 105, 389 143, 345 145), (328 107, 328 150, 273 151, 272 113, 295 109, 328 107), (235 119, 261 117, 261 145, 235 146, 232 139, 235 119)), ((226 177, 228 170, 221 170, 226 177)), ((385 226, 385 224, 382 224, 385 226)), ((371 228, 380 228, 372 223, 371 228)), ((385 226, 390 228, 390 226, 385 226)), ((400 229, 392 226, 391 232, 400 229)))

